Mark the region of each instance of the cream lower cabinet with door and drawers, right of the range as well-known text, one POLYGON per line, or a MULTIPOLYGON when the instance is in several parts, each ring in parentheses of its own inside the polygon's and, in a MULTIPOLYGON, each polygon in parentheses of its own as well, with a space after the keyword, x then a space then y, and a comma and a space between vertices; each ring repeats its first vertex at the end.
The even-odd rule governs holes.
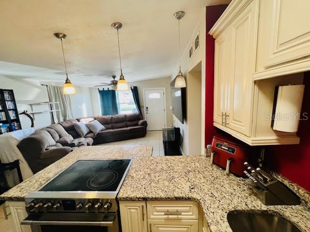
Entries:
POLYGON ((193 201, 121 201, 120 211, 123 232, 209 232, 193 201))

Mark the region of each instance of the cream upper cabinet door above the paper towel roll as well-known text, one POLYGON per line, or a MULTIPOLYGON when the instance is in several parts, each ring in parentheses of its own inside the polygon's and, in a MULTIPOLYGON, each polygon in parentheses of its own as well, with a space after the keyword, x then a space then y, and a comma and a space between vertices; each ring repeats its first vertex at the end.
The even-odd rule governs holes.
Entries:
POLYGON ((265 67, 310 56, 309 0, 273 0, 265 67))

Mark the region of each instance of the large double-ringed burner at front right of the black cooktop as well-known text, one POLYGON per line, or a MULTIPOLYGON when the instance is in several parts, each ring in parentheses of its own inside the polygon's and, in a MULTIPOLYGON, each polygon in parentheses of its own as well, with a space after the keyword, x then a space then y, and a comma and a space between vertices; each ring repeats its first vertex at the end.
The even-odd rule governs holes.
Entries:
POLYGON ((118 178, 118 173, 113 170, 105 170, 99 173, 93 174, 88 181, 87 187, 93 190, 107 188, 118 178))

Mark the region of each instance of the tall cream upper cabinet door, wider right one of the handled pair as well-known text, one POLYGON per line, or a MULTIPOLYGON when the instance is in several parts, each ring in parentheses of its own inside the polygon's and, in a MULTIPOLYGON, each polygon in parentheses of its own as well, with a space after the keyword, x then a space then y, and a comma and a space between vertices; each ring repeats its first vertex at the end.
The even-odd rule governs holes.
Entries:
POLYGON ((258 28, 258 4, 253 0, 230 25, 232 52, 229 73, 227 127, 250 136, 258 28))

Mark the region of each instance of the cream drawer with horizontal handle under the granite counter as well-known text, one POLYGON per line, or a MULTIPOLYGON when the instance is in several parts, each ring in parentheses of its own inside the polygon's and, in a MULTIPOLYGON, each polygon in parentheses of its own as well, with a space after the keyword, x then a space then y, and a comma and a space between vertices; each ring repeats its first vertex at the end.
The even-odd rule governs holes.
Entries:
POLYGON ((198 219, 198 206, 192 201, 147 202, 149 219, 198 219))

